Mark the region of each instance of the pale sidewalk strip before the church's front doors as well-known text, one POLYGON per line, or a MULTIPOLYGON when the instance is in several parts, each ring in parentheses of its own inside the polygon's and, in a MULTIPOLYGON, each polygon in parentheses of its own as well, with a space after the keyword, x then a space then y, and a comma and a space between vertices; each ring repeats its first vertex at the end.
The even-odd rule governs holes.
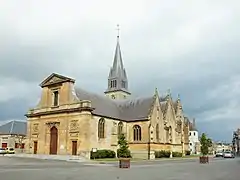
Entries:
POLYGON ((44 160, 59 160, 59 161, 70 161, 70 162, 89 162, 80 156, 71 155, 46 155, 46 154, 6 154, 8 157, 19 157, 19 158, 34 158, 34 159, 44 159, 44 160))

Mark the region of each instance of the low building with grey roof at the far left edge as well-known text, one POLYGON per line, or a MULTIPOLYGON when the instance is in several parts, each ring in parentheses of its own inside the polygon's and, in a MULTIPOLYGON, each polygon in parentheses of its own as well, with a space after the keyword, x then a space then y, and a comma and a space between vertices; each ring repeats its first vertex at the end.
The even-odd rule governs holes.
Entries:
POLYGON ((0 126, 0 146, 2 148, 24 149, 27 122, 10 121, 0 126))

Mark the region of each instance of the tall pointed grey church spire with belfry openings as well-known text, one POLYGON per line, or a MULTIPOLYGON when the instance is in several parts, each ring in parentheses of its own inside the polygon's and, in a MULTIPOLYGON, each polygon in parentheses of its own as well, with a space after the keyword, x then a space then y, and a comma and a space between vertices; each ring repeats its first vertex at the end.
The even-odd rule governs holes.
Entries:
POLYGON ((117 97, 115 96, 115 94, 119 94, 120 92, 124 98, 126 97, 126 95, 131 94, 128 91, 128 79, 127 79, 126 70, 123 66, 122 54, 120 49, 119 25, 117 30, 118 30, 117 46, 115 49, 113 65, 110 68, 110 72, 108 76, 108 88, 105 92, 105 94, 111 94, 113 99, 116 99, 117 97))

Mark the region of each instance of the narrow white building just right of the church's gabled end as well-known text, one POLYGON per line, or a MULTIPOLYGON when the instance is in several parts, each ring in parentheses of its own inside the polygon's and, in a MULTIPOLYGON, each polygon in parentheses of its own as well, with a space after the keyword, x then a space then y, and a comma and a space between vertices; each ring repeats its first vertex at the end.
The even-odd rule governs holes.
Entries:
POLYGON ((195 118, 189 124, 189 149, 191 154, 200 154, 200 142, 195 118))

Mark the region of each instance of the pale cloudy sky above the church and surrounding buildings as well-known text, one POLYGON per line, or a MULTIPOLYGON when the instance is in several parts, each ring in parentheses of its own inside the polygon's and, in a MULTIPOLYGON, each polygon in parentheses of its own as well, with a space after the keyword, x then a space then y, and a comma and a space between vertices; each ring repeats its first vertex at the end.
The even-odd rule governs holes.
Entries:
POLYGON ((180 93, 183 110, 214 140, 240 127, 238 0, 3 0, 0 121, 26 120, 51 73, 102 93, 117 24, 135 96, 180 93))

